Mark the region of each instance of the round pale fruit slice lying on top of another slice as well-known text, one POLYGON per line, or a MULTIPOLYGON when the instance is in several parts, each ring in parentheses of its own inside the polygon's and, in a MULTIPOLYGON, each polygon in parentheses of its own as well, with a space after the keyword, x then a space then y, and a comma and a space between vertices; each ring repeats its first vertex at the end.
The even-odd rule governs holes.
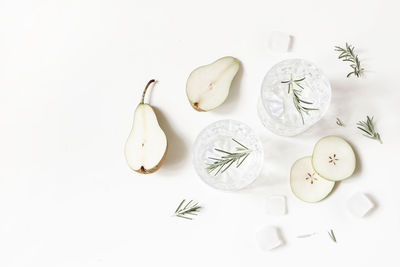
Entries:
POLYGON ((340 181, 353 174, 356 156, 346 140, 338 136, 326 136, 315 144, 312 164, 320 176, 340 181))

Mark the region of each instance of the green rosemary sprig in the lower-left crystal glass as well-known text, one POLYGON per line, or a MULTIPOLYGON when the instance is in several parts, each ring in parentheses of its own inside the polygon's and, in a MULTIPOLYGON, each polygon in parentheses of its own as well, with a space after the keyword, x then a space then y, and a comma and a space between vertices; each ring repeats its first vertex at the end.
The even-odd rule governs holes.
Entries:
POLYGON ((214 176, 216 176, 218 173, 225 172, 235 162, 236 168, 239 168, 252 152, 248 147, 239 143, 237 140, 232 138, 232 141, 239 145, 239 147, 236 147, 236 152, 228 152, 219 148, 214 148, 215 151, 223 153, 224 155, 220 158, 209 157, 213 162, 209 163, 206 168, 208 173, 211 174, 213 171, 216 171, 214 174, 214 176))

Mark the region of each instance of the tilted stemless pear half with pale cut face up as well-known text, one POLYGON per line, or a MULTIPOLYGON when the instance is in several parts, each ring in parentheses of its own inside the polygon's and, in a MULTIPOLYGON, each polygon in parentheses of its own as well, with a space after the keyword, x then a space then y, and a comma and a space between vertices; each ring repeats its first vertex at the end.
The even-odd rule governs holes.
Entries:
POLYGON ((209 111, 224 103, 239 67, 236 58, 223 57, 192 71, 186 83, 190 105, 197 111, 209 111))

